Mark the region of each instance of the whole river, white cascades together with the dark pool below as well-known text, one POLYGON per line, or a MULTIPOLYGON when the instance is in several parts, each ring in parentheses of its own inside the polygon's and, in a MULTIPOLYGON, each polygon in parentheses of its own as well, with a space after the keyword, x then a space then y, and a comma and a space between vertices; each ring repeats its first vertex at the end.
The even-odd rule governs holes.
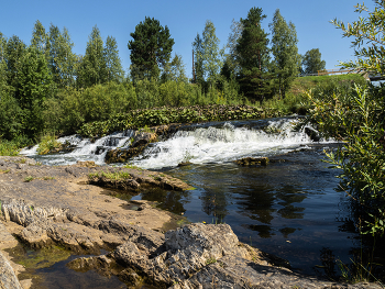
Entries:
MULTIPOLYGON (((162 170, 195 190, 146 191, 132 199, 157 201, 191 222, 230 224, 240 241, 287 259, 305 274, 324 274, 336 259, 349 263, 360 246, 349 230, 349 199, 338 192, 338 170, 329 168, 323 151, 332 140, 314 142, 294 131, 295 118, 197 124, 168 140, 151 144, 131 164, 162 170), (267 166, 243 167, 243 157, 271 159, 267 166), (178 164, 189 162, 187 166, 178 164)), ((314 130, 312 127, 309 127, 314 130)), ((36 147, 22 153, 48 165, 94 160, 105 165, 108 149, 131 144, 132 131, 91 143, 64 137, 77 148, 68 154, 37 156, 36 147)))

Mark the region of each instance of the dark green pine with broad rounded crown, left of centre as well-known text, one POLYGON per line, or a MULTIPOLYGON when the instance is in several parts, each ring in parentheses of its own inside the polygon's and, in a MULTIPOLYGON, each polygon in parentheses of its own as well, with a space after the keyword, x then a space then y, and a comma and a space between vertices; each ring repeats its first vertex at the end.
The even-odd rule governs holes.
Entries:
POLYGON ((169 60, 175 43, 168 27, 163 27, 158 20, 146 16, 130 35, 133 38, 128 44, 131 51, 132 79, 158 79, 161 70, 169 60))

